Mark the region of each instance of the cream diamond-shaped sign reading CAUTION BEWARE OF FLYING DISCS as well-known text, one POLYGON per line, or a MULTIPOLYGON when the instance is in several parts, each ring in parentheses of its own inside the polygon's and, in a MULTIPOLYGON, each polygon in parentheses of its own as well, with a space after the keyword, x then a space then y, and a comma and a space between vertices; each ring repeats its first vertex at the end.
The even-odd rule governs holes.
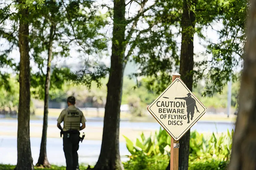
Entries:
POLYGON ((206 112, 204 105, 180 78, 176 78, 147 109, 175 140, 179 140, 206 112))

